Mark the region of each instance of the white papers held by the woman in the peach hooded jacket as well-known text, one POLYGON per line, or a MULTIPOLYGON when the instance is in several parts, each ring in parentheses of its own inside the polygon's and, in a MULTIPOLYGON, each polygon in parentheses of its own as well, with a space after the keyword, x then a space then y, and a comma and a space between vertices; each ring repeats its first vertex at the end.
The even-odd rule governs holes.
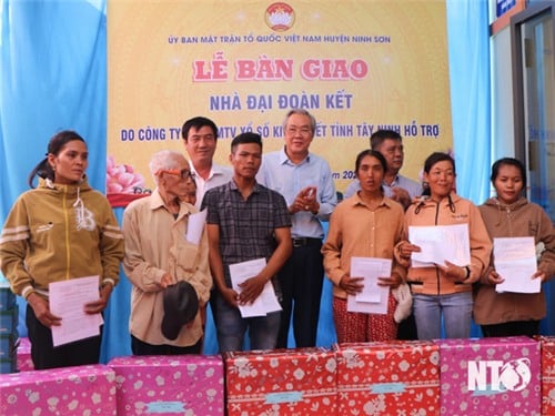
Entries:
POLYGON ((443 266, 446 260, 462 267, 471 264, 468 224, 411 225, 408 241, 421 247, 420 253, 411 255, 413 267, 443 266))

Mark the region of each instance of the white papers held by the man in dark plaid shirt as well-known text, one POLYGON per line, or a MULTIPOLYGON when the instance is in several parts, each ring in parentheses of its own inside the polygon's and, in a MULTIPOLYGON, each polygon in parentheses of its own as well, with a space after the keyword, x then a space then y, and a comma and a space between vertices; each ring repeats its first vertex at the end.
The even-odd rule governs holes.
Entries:
MULTIPOLYGON (((255 258, 248 262, 230 264, 231 284, 235 292, 241 293, 239 285, 248 278, 254 277, 266 266, 265 258, 255 258)), ((240 305, 242 317, 266 316, 270 312, 281 311, 280 302, 275 296, 272 282, 266 282, 262 293, 250 305, 240 305)))

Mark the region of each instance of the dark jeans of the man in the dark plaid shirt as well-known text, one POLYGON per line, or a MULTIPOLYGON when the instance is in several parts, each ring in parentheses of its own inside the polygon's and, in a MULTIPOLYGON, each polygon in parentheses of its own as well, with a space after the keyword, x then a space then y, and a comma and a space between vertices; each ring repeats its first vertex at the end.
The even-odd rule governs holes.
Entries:
POLYGON ((250 349, 274 349, 280 331, 281 311, 266 316, 242 317, 239 308, 231 306, 218 291, 212 292, 214 324, 220 353, 242 351, 249 329, 250 349))

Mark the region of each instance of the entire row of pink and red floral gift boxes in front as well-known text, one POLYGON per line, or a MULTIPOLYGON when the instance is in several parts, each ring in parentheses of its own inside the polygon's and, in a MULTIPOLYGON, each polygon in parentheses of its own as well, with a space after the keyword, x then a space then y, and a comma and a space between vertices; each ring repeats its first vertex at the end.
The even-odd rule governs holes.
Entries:
POLYGON ((555 337, 117 357, 0 375, 0 415, 555 415, 555 337))

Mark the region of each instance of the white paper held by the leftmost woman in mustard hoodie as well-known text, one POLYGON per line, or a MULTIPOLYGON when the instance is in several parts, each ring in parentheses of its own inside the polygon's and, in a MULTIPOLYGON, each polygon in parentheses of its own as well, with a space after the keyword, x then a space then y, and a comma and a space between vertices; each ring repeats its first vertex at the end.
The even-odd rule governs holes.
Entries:
POLYGON ((49 284, 50 312, 62 318, 60 326, 52 326, 54 346, 100 335, 102 315, 84 312, 84 305, 98 301, 99 296, 99 276, 49 284))

